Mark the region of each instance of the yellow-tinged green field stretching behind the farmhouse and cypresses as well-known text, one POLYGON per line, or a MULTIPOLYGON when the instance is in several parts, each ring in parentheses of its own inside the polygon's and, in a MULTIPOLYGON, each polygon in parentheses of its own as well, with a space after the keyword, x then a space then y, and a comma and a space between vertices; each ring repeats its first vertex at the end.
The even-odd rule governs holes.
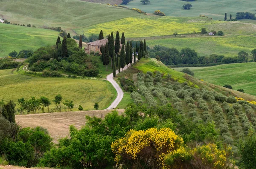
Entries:
POLYGON ((256 35, 256 25, 243 22, 224 22, 211 20, 206 17, 128 17, 107 23, 100 23, 87 28, 75 29, 76 32, 87 35, 103 33, 110 34, 111 31, 125 32, 125 37, 151 37, 179 34, 191 34, 201 32, 201 28, 223 31, 225 34, 256 35))

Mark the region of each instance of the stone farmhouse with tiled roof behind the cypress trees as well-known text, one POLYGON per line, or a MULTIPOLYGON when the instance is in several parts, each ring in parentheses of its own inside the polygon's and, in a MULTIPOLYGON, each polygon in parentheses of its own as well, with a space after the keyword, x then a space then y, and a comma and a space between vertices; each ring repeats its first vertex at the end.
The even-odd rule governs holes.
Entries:
MULTIPOLYGON (((90 52, 94 52, 94 53, 99 52, 99 54, 102 54, 100 52, 100 47, 102 45, 105 46, 107 42, 108 42, 108 38, 87 43, 86 48, 84 48, 84 52, 87 54, 90 54, 90 52)), ((121 51, 121 48, 122 48, 122 44, 120 43, 120 51, 121 51)))

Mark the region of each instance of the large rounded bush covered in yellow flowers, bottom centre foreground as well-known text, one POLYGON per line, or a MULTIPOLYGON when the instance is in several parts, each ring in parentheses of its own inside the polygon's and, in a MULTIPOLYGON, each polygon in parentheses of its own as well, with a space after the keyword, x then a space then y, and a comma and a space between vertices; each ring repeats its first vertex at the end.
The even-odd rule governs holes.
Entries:
POLYGON ((125 137, 111 144, 117 164, 137 168, 146 164, 152 168, 165 168, 166 154, 183 144, 183 139, 169 129, 151 128, 145 131, 130 130, 125 137))

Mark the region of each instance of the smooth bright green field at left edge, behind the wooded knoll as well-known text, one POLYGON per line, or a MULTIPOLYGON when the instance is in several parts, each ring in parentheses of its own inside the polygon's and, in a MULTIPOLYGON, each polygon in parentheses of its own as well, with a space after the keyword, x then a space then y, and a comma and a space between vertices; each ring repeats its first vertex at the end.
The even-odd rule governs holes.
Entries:
POLYGON ((54 45, 58 37, 57 31, 10 24, 0 24, 0 30, 0 57, 6 57, 14 50, 35 50, 41 46, 54 45))

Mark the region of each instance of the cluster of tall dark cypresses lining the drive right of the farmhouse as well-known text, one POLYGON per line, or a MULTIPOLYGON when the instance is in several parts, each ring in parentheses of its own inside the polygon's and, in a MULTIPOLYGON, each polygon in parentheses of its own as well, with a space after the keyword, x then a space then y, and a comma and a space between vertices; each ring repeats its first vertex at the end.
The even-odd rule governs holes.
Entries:
MULTIPOLYGON (((99 33, 99 40, 104 39, 104 35, 102 30, 99 33)), ((114 40, 113 32, 108 35, 108 42, 105 44, 105 46, 102 44, 100 51, 102 52, 102 62, 103 65, 106 65, 106 70, 108 71, 108 64, 110 63, 110 57, 111 57, 111 68, 113 69, 113 76, 116 76, 116 67, 118 67, 118 72, 120 72, 120 69, 125 67, 125 64, 128 67, 128 64, 131 64, 132 62, 136 63, 136 57, 138 52, 138 60, 140 60, 142 57, 145 57, 145 54, 147 52, 146 48, 146 40, 140 41, 140 44, 138 45, 138 42, 136 43, 136 47, 134 47, 134 57, 132 55, 132 41, 129 42, 127 40, 127 43, 125 43, 125 34, 122 32, 121 42, 120 42, 120 36, 119 32, 116 31, 116 39, 114 40), (121 52, 120 50, 120 43, 122 44, 121 52), (120 52, 120 54, 119 54, 120 52)))

